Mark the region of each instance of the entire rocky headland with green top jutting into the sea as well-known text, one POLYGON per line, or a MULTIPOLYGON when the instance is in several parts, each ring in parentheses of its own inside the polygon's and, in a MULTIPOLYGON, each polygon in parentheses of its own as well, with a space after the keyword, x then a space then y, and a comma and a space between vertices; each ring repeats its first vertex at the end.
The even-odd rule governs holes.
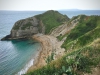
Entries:
POLYGON ((17 21, 11 29, 10 35, 1 40, 29 38, 34 34, 49 34, 51 29, 67 22, 69 18, 58 11, 49 10, 43 14, 17 21))

